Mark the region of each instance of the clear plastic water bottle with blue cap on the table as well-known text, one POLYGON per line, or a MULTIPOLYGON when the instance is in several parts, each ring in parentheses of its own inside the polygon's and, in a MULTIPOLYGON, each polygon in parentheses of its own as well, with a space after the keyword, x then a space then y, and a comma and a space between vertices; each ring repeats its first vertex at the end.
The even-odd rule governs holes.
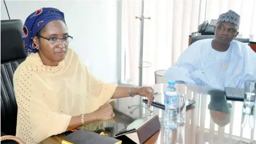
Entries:
POLYGON ((164 91, 165 95, 165 116, 164 127, 167 129, 176 129, 177 127, 177 104, 178 95, 175 82, 169 81, 164 91))

